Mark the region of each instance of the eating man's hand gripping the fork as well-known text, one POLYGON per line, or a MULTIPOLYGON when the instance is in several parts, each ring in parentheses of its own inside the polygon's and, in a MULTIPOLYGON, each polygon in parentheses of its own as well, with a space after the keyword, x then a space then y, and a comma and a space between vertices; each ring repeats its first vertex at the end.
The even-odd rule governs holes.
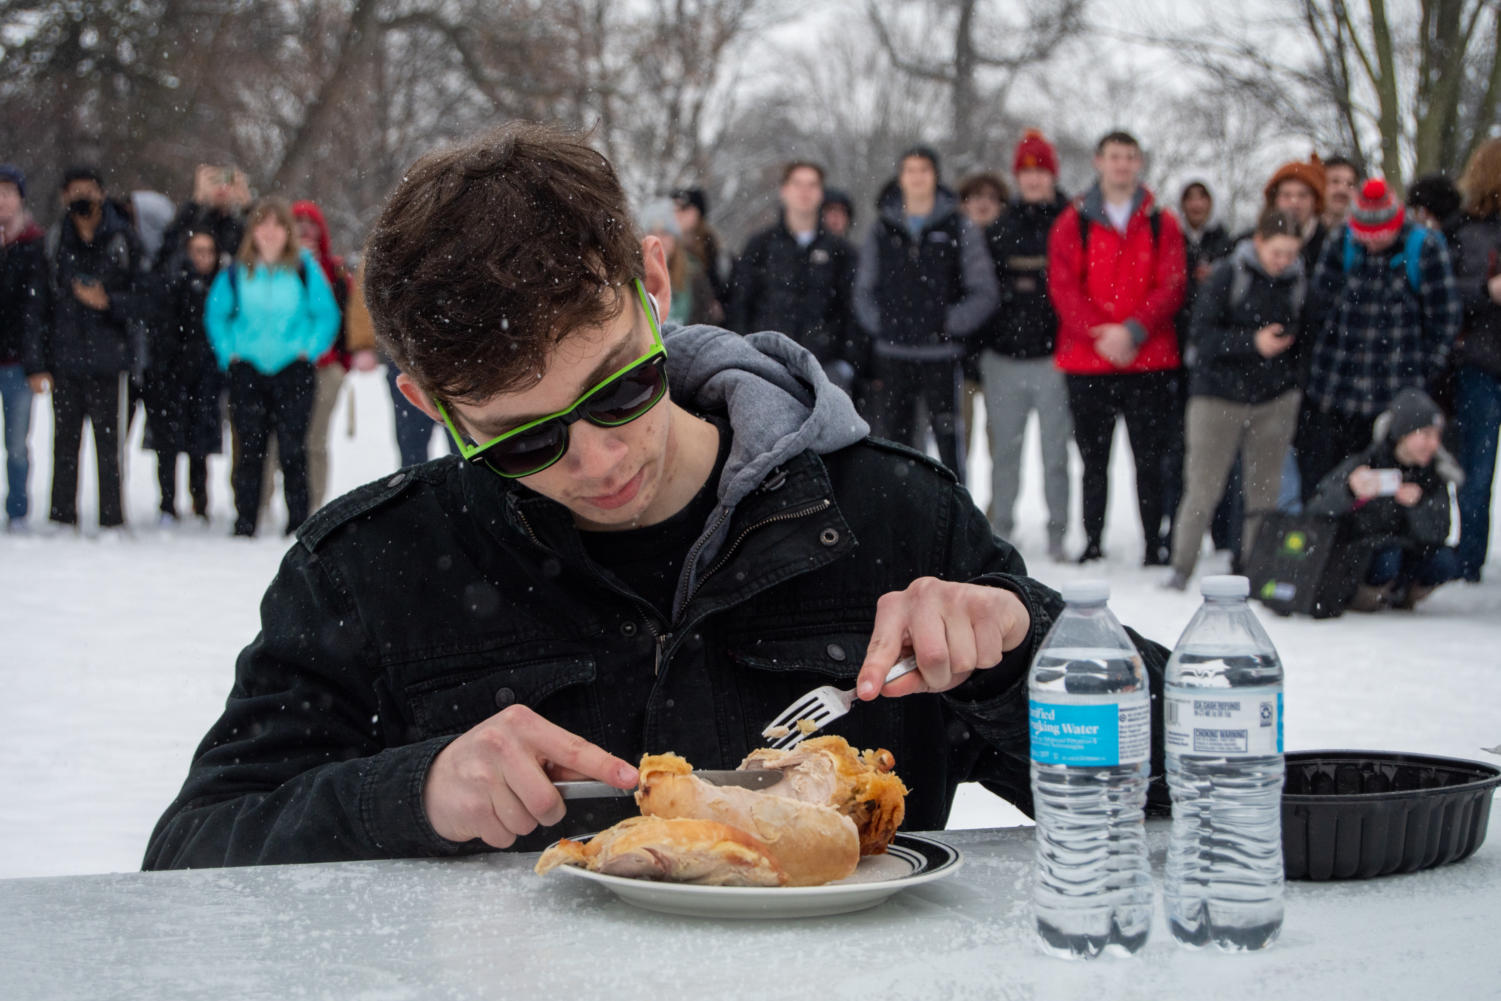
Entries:
POLYGON ((1030 630, 1027 606, 1006 588, 917 578, 905 591, 890 591, 877 602, 856 692, 866 701, 947 692, 974 671, 994 668, 1030 630), (886 672, 904 650, 917 657, 917 671, 883 689, 886 672))

